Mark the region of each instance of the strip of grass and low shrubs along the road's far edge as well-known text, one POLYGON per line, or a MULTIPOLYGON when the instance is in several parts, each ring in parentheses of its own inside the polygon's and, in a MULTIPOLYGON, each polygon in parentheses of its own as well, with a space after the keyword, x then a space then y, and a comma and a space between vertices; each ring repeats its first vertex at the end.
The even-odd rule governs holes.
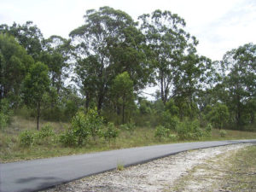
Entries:
MULTIPOLYGON (((36 119, 24 119, 14 116, 8 129, 0 131, 0 161, 13 162, 54 156, 84 154, 118 148, 131 148, 154 144, 195 142, 226 139, 250 139, 256 132, 212 129, 202 132, 202 137, 179 137, 177 131, 164 127, 164 135, 159 136, 159 127, 138 127, 135 125, 102 124, 96 138, 90 131, 79 143, 77 133, 73 133, 72 124, 61 122, 41 122, 40 131, 36 131, 36 119), (131 127, 131 128, 130 128, 131 127), (167 134, 166 134, 167 133, 167 134)), ((77 127, 76 127, 77 129, 77 127)))

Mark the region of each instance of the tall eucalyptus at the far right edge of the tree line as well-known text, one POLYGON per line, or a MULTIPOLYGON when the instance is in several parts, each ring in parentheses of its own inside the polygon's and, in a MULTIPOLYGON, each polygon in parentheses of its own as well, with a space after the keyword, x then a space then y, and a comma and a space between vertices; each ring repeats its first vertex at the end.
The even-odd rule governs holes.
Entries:
POLYGON ((229 98, 227 105, 235 114, 236 126, 241 128, 247 124, 245 116, 250 111, 247 102, 256 96, 256 45, 245 44, 228 51, 222 65, 227 72, 223 81, 229 98))

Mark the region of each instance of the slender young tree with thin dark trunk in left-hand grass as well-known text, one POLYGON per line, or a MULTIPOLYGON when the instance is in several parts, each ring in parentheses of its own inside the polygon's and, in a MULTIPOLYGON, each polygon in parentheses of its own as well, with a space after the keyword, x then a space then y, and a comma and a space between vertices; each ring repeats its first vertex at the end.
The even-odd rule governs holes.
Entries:
POLYGON ((37 62, 30 67, 23 84, 24 102, 31 108, 37 108, 37 129, 39 130, 39 118, 44 93, 49 90, 48 67, 37 62))

